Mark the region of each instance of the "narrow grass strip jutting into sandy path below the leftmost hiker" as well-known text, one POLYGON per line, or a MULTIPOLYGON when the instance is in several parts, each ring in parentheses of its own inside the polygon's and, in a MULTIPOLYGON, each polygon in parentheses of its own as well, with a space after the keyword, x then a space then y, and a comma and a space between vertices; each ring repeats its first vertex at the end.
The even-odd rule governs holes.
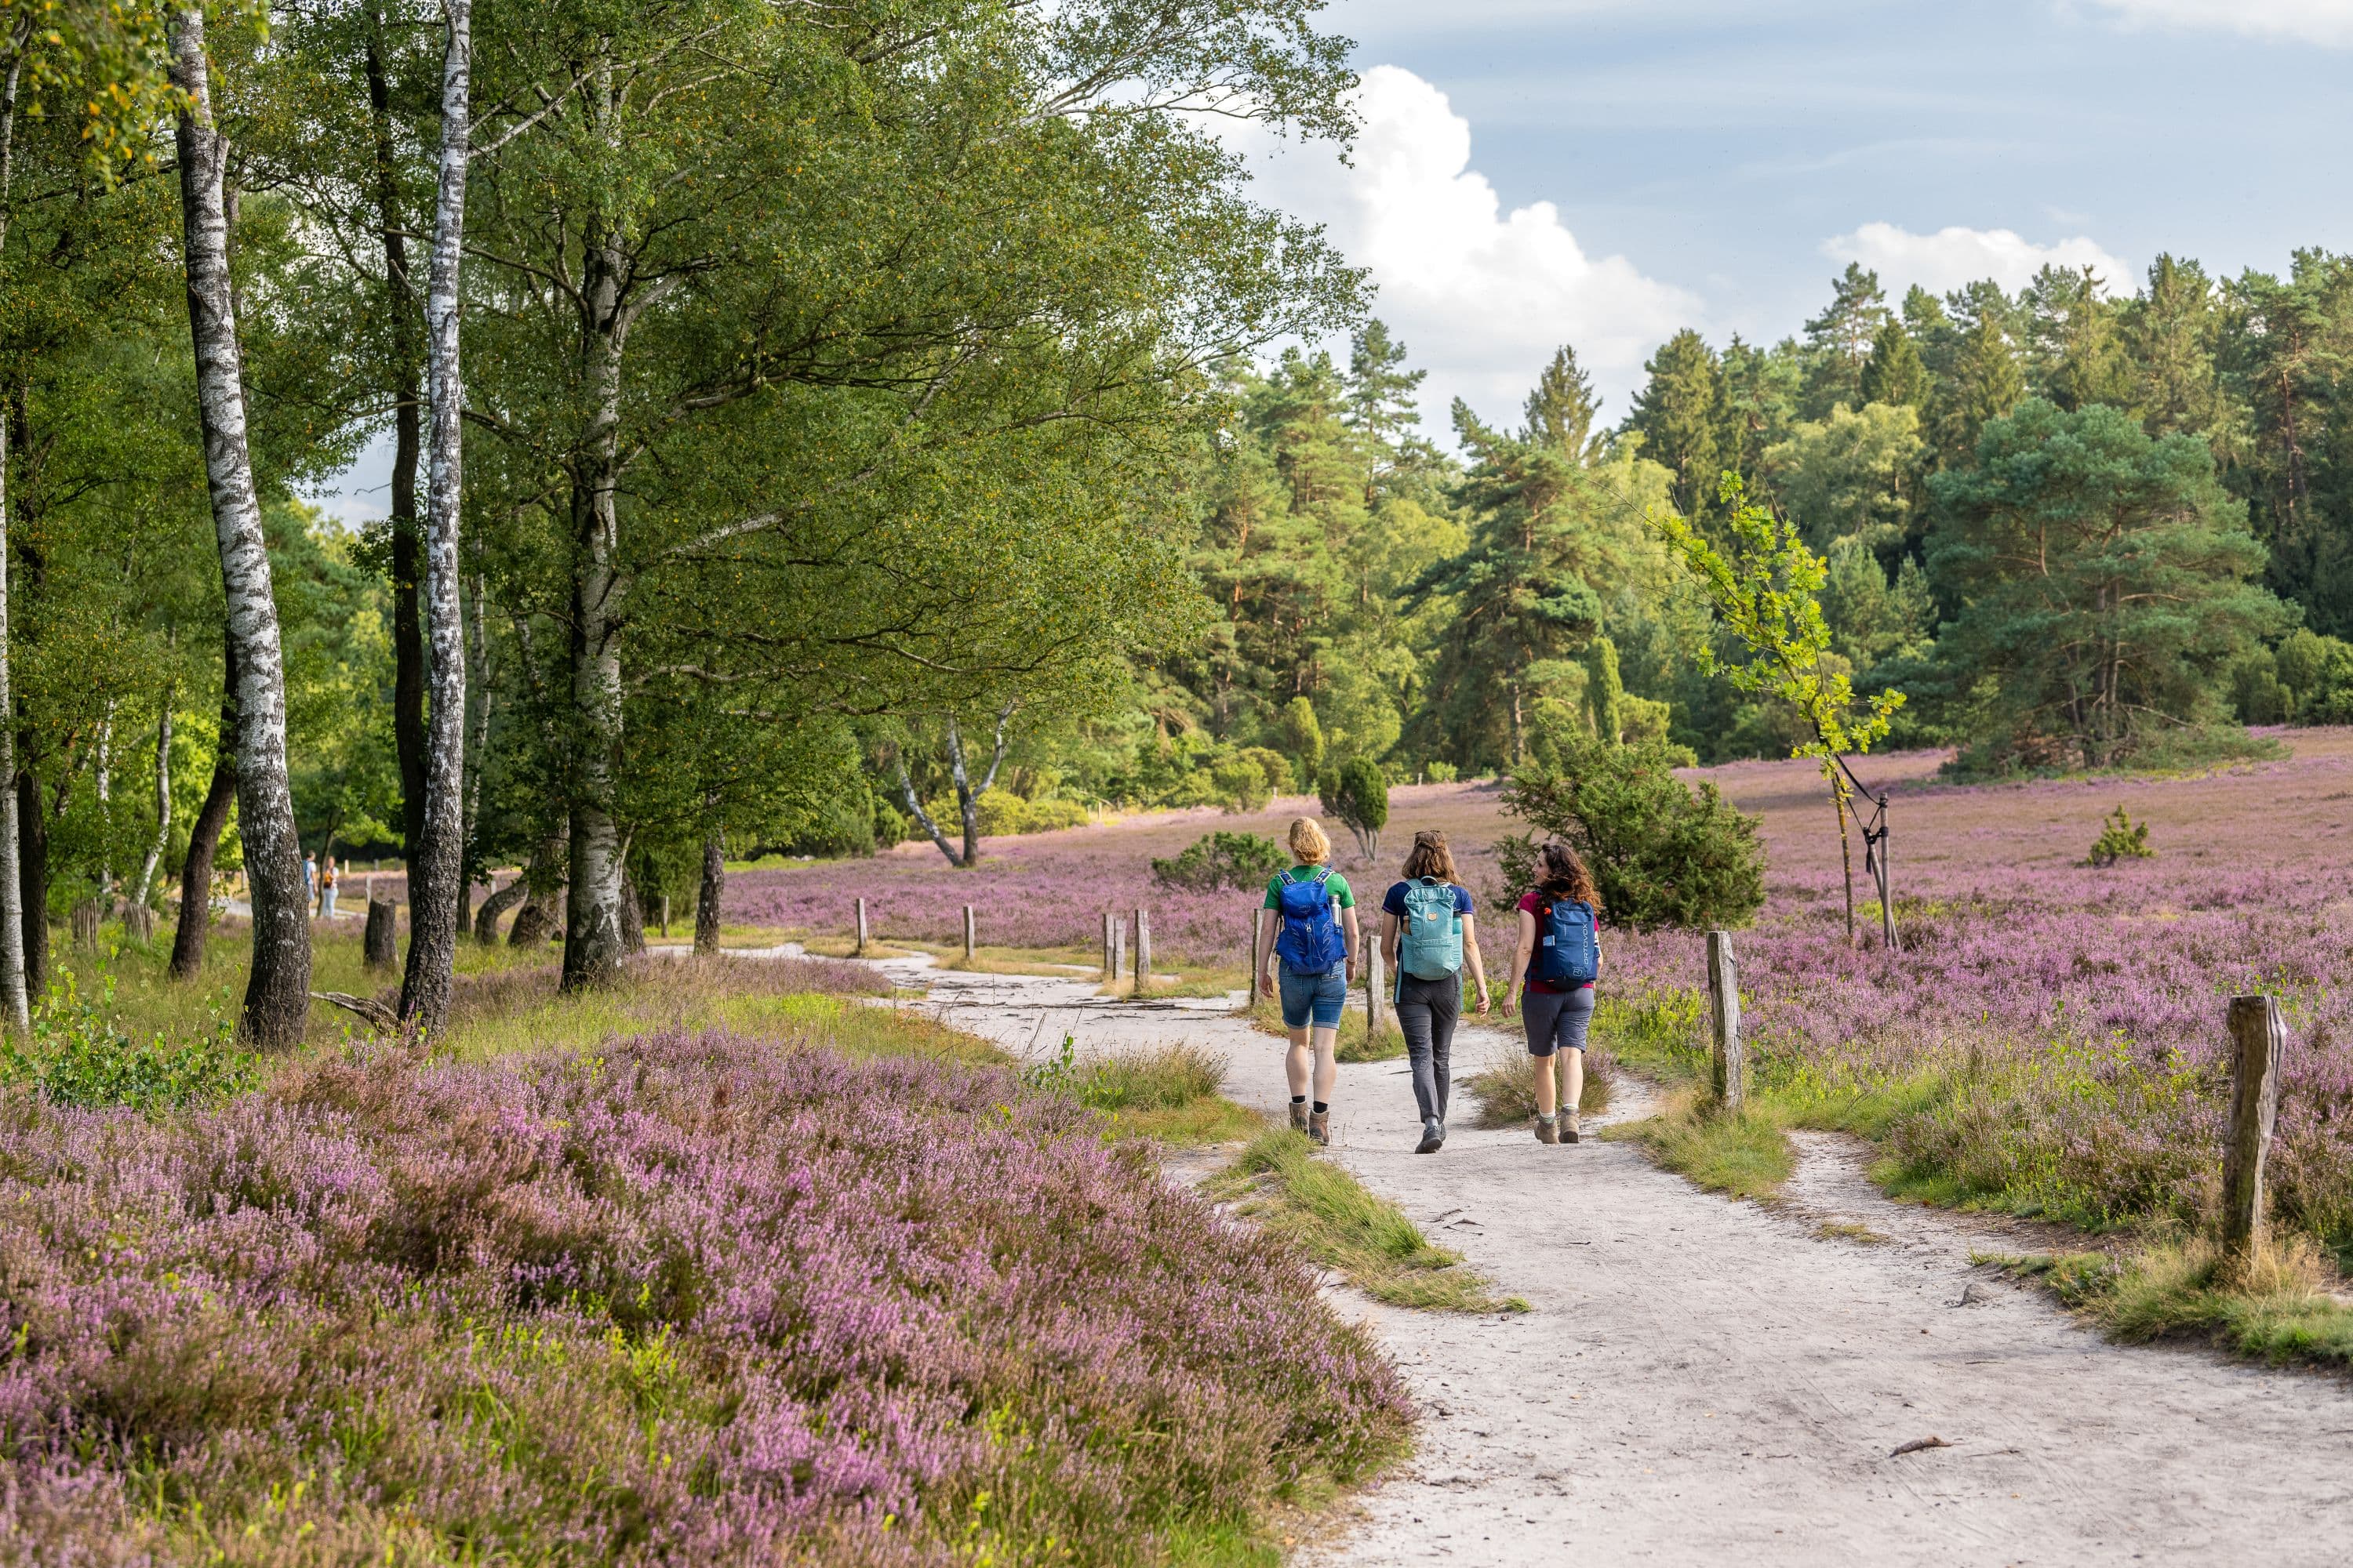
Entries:
POLYGON ((1374 1300, 1433 1312, 1527 1312, 1525 1300, 1497 1295, 1461 1253, 1433 1246, 1402 1208, 1341 1164, 1318 1159, 1315 1145, 1289 1128, 1261 1133, 1207 1190, 1374 1300))

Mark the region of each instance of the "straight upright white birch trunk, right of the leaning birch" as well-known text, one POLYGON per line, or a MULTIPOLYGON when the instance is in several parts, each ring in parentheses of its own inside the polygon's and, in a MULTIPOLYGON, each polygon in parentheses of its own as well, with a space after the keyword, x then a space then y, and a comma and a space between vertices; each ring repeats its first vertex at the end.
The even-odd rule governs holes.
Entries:
POLYGON ((440 188, 426 282, 426 637, 433 708, 426 731, 426 820, 409 886, 409 964, 400 1018, 426 1032, 449 1016, 456 929, 466 910, 466 630, 459 611, 459 496, 464 480, 464 386, 459 378, 459 263, 466 247, 466 158, 473 141, 473 0, 442 0, 440 188))

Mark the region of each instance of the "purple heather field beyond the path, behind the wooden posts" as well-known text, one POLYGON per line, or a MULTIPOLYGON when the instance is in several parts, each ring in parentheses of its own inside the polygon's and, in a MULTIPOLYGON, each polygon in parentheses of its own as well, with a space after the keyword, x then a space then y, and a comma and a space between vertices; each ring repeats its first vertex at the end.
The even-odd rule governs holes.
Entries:
MULTIPOLYGON (((1835 820, 1807 764, 1708 771, 1765 816, 1772 856, 1765 917, 1741 943, 1760 1079, 1833 1121, 1868 1100, 1847 1121, 1974 1197, 2085 1225, 2195 1218, 2217 1187, 2224 999, 2268 990, 2292 1023, 2280 1213, 2353 1251, 2353 731, 2282 741, 2287 759, 2172 780, 1948 788, 1937 757, 1871 759, 1864 778, 1897 792, 1894 954, 1842 943, 1835 820), (2118 804, 2151 823, 2158 858, 2080 865, 2118 804)), ((946 940, 974 903, 984 940, 1052 945, 1092 943, 1104 907, 1148 900, 1162 952, 1240 961, 1254 900, 1160 893, 1148 858, 1214 825, 1280 835, 1285 816, 1005 839, 974 872, 901 846, 739 877, 729 914, 847 929, 849 896, 866 893, 885 933, 946 940)), ((1492 790, 1426 785, 1391 799, 1391 860, 1414 827, 1482 849, 1508 823, 1492 790)), ((1464 858, 1485 893, 1492 858, 1464 858)), ((1365 872, 1346 842, 1341 867, 1372 889, 1395 870, 1365 872)), ((1859 853, 1857 884, 1868 896, 1859 853)), ((1621 997, 1699 983, 1689 933, 1619 938, 1612 954, 1621 997)))

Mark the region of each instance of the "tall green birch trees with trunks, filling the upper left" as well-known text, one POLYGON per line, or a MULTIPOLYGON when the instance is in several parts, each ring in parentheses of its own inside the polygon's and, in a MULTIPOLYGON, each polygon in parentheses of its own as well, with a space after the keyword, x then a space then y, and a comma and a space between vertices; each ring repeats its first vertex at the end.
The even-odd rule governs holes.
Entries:
POLYGON ((247 875, 259 1044, 304 851, 398 846, 431 1030, 492 865, 586 985, 953 724, 1106 712, 1198 621, 1214 367, 1360 313, 1205 129, 1346 143, 1311 9, 0 2, 16 1020, 158 839, 176 973, 247 875), (351 536, 304 494, 379 433, 351 536))

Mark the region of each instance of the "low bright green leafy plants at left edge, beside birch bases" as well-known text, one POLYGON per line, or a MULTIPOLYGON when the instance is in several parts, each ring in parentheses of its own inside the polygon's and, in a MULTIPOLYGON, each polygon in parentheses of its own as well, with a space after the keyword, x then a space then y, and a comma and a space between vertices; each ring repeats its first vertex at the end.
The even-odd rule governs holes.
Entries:
POLYGON ((226 990, 212 999, 205 1030, 136 1039, 120 1025, 115 976, 104 959, 94 980, 96 992, 85 994, 73 969, 56 969, 33 1009, 33 1037, 0 1039, 0 1084, 24 1084, 54 1105, 127 1105, 148 1114, 261 1084, 261 1058, 238 1044, 238 1023, 224 1011, 226 990))

